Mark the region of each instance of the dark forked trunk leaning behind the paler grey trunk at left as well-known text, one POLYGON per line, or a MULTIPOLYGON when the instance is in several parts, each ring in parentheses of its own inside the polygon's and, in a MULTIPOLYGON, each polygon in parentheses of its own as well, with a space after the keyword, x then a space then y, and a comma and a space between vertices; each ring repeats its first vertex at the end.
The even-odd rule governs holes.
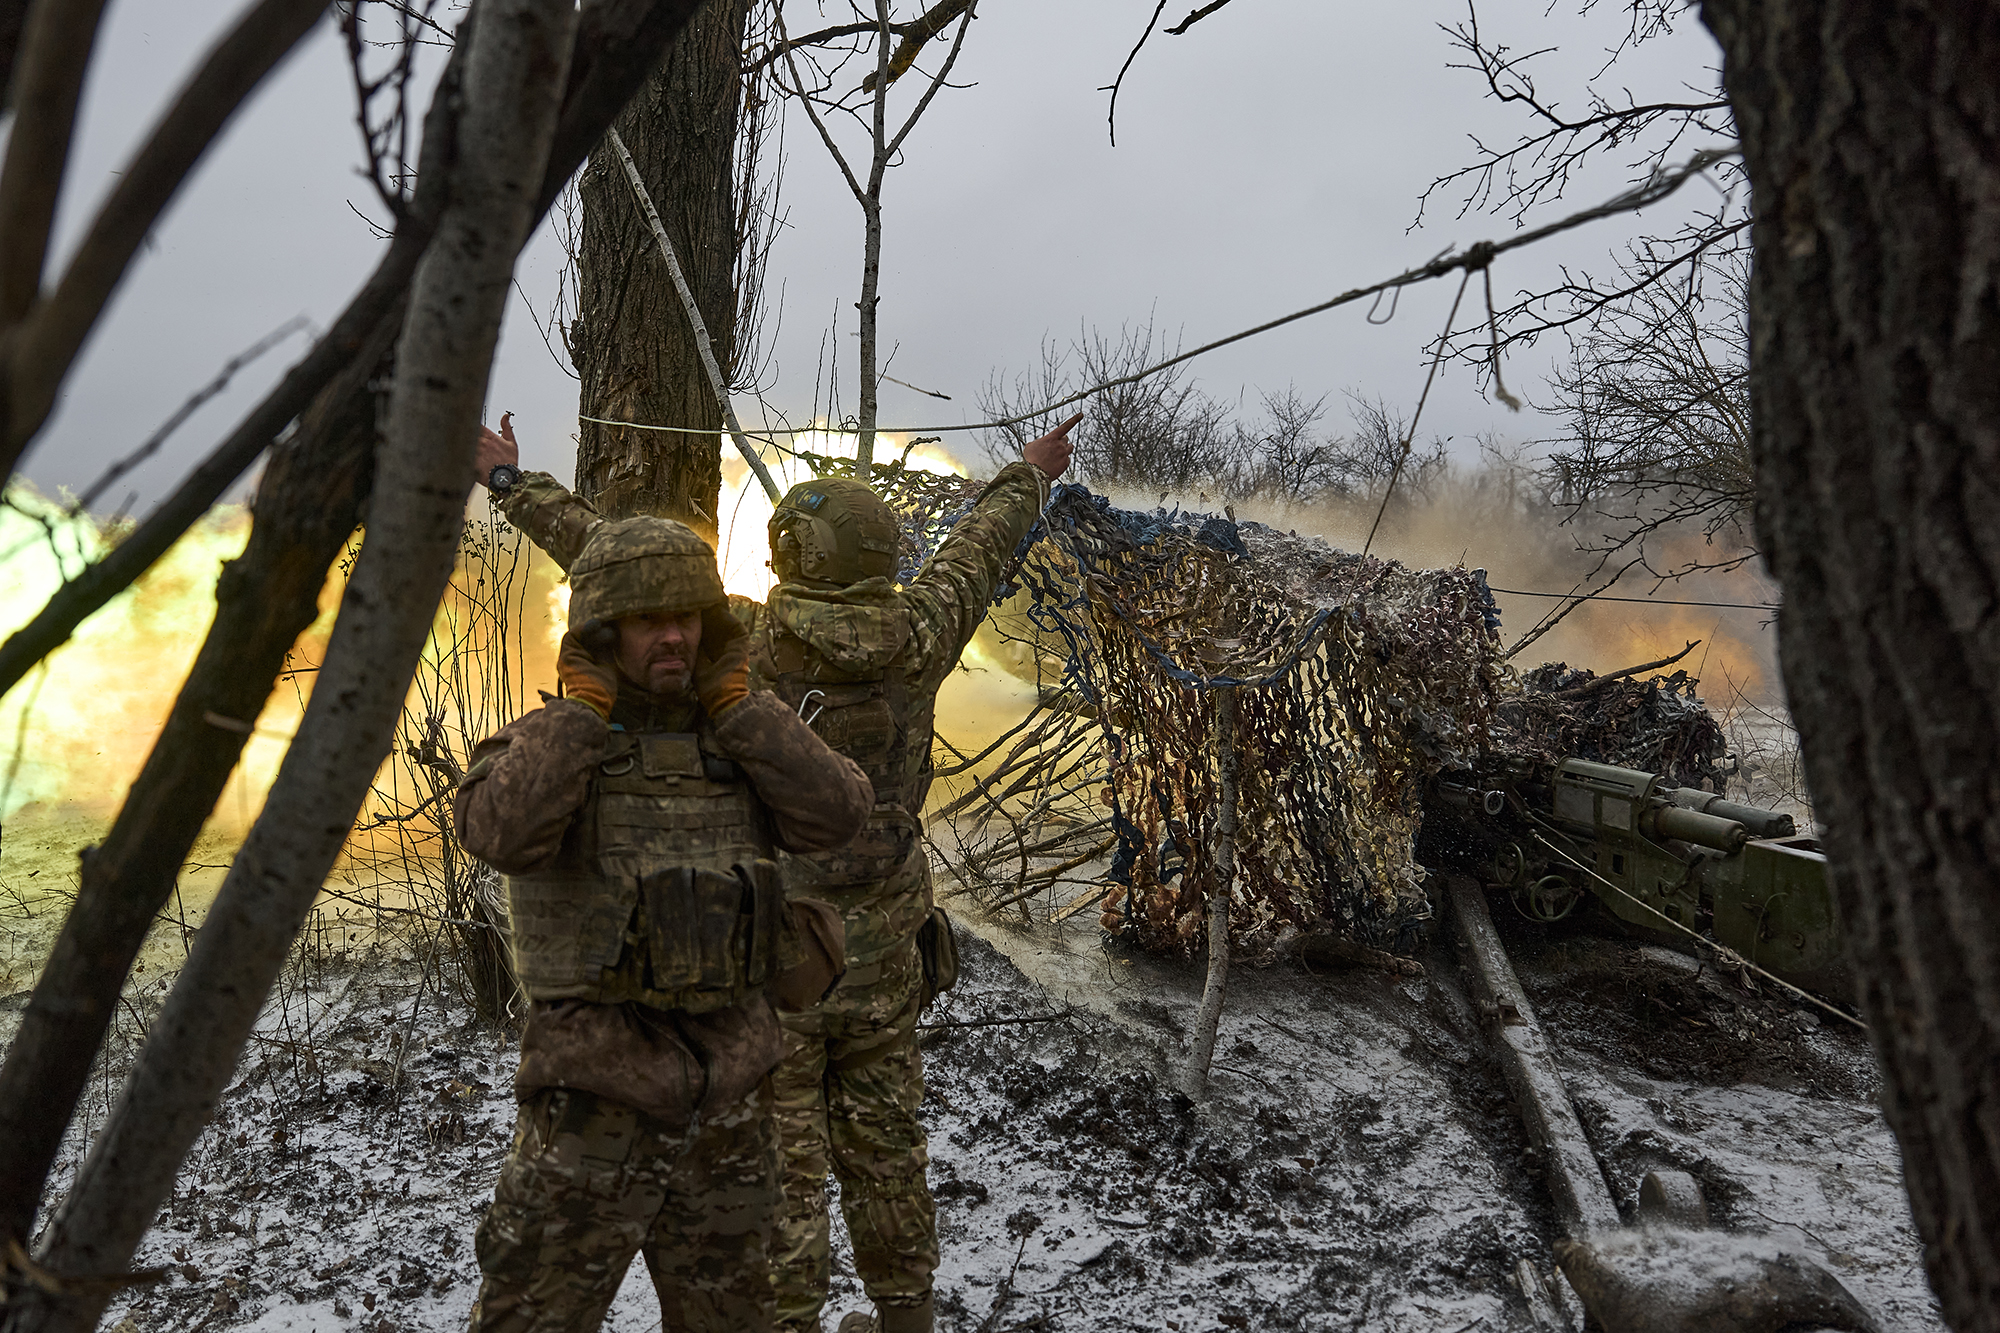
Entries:
MULTIPOLYGON (((616 110, 644 82, 658 52, 672 42, 696 0, 614 0, 582 14, 578 52, 556 132, 556 150, 542 176, 538 210, 548 210, 586 150, 604 134, 616 110)), ((462 52, 440 80, 458 86, 462 52)), ((194 671, 184 683, 160 741, 132 785, 102 849, 90 853, 70 919, 22 1015, 20 1031, 0 1069, 0 1251, 26 1245, 28 1229, 48 1179, 56 1147, 68 1127, 98 1043, 118 1005, 126 973, 146 931, 174 891, 180 867, 214 807, 242 749, 242 733, 210 717, 242 723, 254 719, 270 695, 284 650, 298 628, 318 612, 326 568, 352 534, 370 490, 376 442, 380 354, 402 328, 404 292, 418 256, 430 244, 454 154, 458 102, 434 98, 424 122, 422 176, 410 212, 398 222, 396 240, 374 276, 354 296, 320 346, 286 376, 286 382, 244 418, 242 426, 198 468, 164 510, 156 538, 164 550, 174 524, 184 528, 206 508, 204 486, 214 492, 236 476, 284 426, 312 392, 340 372, 298 430, 272 456, 258 486, 250 544, 218 584, 216 620, 194 671), (342 370, 346 364, 346 370, 342 370), (186 492, 194 490, 194 496, 186 492)), ((208 494, 212 500, 214 494, 208 494)), ((156 516, 158 518, 158 516, 156 516)), ((156 518, 140 526, 154 528, 156 518)), ((88 610, 144 572, 152 556, 114 564, 138 540, 128 538, 112 558, 92 566, 88 596, 64 592, 36 618, 54 620, 42 646, 12 671, 24 673, 40 652, 60 644, 88 610), (102 578, 100 570, 108 572, 102 578), (60 614, 54 614, 60 604, 60 614)), ((0 650, 34 626, 20 630, 0 650)), ((4 685, 4 677, 0 677, 4 685)))

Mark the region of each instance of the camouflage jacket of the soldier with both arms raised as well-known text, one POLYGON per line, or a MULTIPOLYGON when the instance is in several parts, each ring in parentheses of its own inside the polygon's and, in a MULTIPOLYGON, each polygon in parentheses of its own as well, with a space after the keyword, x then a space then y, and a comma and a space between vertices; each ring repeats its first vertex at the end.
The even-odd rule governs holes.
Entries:
MULTIPOLYGON (((1014 548, 1048 502, 1048 474, 1030 462, 1012 462, 980 494, 978 504, 952 528, 938 552, 906 586, 868 578, 840 590, 784 582, 766 604, 732 596, 730 606, 762 640, 766 616, 804 638, 828 658, 854 669, 900 669, 912 699, 930 715, 930 701, 958 664, 972 632, 1000 584, 1014 548)), ((542 550, 568 568, 600 514, 554 476, 528 472, 502 500, 500 512, 542 550)), ((756 683, 768 685, 768 683, 756 683)), ((918 791, 928 781, 930 737, 912 737, 924 765, 918 791)), ((920 811, 912 811, 920 813, 920 811)), ((930 861, 916 847, 904 867, 884 881, 838 893, 814 891, 836 903, 848 927, 848 965, 904 947, 930 913, 930 861)))

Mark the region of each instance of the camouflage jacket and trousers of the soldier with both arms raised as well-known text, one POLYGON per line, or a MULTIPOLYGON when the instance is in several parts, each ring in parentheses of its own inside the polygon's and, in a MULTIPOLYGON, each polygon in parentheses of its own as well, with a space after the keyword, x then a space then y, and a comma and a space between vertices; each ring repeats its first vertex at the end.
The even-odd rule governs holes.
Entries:
MULTIPOLYGON (((872 775, 878 801, 890 799, 886 789, 900 787, 908 815, 922 811, 938 687, 984 618, 1006 560, 1048 498, 1048 484, 1034 464, 1002 468, 978 506, 904 588, 890 578, 864 578, 834 590, 784 582, 772 590, 768 606, 732 598, 738 616, 752 624, 752 640, 760 644, 754 660, 762 671, 770 671, 766 646, 790 642, 804 644, 814 660, 842 675, 886 673, 900 683, 896 725, 908 729, 900 749, 906 771, 890 781, 872 775)), ((598 522, 596 510, 540 472, 526 474, 500 504, 510 522, 564 566, 598 522)), ((826 739, 846 749, 840 737, 826 739)), ((786 1051, 774 1089, 786 1211, 772 1247, 780 1329, 816 1329, 826 1303, 828 1167, 840 1179, 854 1263, 870 1299, 884 1311, 920 1307, 928 1317, 938 1227, 924 1181, 924 1129, 916 1119, 924 1099, 916 1049, 924 1001, 916 931, 930 915, 932 895, 930 859, 910 823, 900 865, 880 879, 828 883, 814 859, 784 863, 790 891, 840 907, 848 973, 816 1009, 780 1017, 786 1051)))

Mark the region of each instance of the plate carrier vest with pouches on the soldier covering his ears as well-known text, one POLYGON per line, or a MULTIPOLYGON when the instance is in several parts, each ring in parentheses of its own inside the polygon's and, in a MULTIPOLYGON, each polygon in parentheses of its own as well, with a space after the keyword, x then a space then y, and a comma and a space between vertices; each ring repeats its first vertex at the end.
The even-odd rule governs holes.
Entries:
POLYGON ((706 725, 610 735, 556 861, 506 879, 530 999, 632 999, 604 975, 628 941, 644 949, 648 999, 690 1013, 740 1005, 804 957, 770 815, 716 751, 706 725))

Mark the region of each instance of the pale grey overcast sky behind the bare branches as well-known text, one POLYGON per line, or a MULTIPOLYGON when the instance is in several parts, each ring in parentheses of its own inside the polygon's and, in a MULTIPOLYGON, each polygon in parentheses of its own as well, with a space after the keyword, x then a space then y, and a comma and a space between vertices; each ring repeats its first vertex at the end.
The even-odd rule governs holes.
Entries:
MULTIPOLYGON (((1164 22, 1186 8, 1174 0, 1164 22)), ((1616 6, 1590 18, 1574 8, 1544 16, 1540 4, 1516 0, 1482 14, 1496 40, 1562 46, 1538 68, 1544 92, 1572 108, 1624 22, 1616 6)), ((66 240, 236 10, 230 0, 112 2, 60 218, 66 240)), ((940 92, 884 192, 882 332, 884 344, 900 344, 892 374, 952 400, 884 384, 886 426, 976 420, 988 374, 1030 368, 1044 336, 1068 342, 1080 328, 1150 318, 1168 340, 1192 346, 1410 268, 1448 244, 1512 230, 1494 216, 1458 218, 1458 200, 1442 200, 1410 230, 1424 186, 1470 160, 1470 132, 1510 140, 1524 126, 1482 96, 1476 74, 1446 68, 1454 56, 1438 24, 1460 20, 1462 4, 1236 0, 1186 36, 1154 34, 1126 76, 1112 148, 1100 86, 1150 14, 1152 0, 982 6, 954 72, 970 86, 940 92)), ((804 22, 794 16, 794 26, 804 22)), ((1706 84, 1710 64, 1714 48, 1690 14, 1672 38, 1622 62, 1618 78, 1640 98, 1670 96, 1684 82, 1706 84)), ((810 412, 822 334, 836 316, 852 376, 856 344, 846 332, 860 280, 860 210, 808 124, 788 128, 786 150, 788 226, 770 282, 784 304, 768 398, 796 420, 810 412)), ((26 474, 44 488, 80 488, 232 354, 294 316, 324 326, 382 248, 356 214, 380 214, 360 160, 346 56, 322 26, 158 228, 26 474)), ((1622 184, 1622 162, 1608 160, 1530 222, 1622 184)), ((1560 262, 1602 268, 1640 226, 1660 228, 1664 218, 1598 222, 1508 256, 1494 270, 1496 290, 1532 286, 1560 262)), ((536 308, 546 308, 558 264, 556 246, 538 236, 520 268, 536 308)), ((1424 378, 1422 346, 1450 296, 1448 282, 1410 290, 1386 326, 1370 326, 1360 306, 1322 314, 1202 358, 1194 376, 1252 408, 1260 390, 1296 384, 1336 404, 1342 390, 1358 390, 1408 410, 1424 378)), ((240 374, 106 506, 136 490, 144 510, 302 350, 296 338, 240 374)), ((1508 374, 1532 398, 1544 370, 1546 352, 1536 352, 1508 374)), ((842 398, 852 404, 852 384, 842 398)), ((570 476, 576 386, 520 298, 488 402, 494 418, 516 412, 530 466, 570 476)), ((1334 424, 1346 424, 1340 410, 1334 424)), ((1512 416, 1484 402, 1462 370, 1446 370, 1424 418, 1424 434, 1462 440, 1480 430, 1534 438, 1548 428, 1532 412, 1512 416)))

